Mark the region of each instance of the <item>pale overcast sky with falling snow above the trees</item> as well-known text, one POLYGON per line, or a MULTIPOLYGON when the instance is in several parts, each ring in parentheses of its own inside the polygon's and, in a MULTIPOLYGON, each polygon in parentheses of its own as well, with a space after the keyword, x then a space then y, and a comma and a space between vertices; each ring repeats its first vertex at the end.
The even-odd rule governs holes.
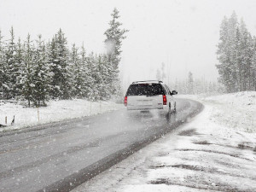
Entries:
POLYGON ((256 35, 254 0, 0 0, 0 29, 4 39, 14 26, 16 38, 25 40, 29 32, 48 40, 61 27, 69 44, 84 42, 88 52, 104 53, 103 33, 114 7, 130 30, 120 63, 127 83, 155 79, 162 62, 169 80, 184 79, 189 71, 216 80, 219 26, 233 10, 256 35))

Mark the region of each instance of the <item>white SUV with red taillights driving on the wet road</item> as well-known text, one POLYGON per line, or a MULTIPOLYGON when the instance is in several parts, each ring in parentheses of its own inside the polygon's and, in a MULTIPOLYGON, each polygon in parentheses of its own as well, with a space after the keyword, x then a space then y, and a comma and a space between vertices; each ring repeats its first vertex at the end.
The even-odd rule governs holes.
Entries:
POLYGON ((166 113, 176 112, 176 102, 172 96, 176 94, 176 90, 171 92, 162 81, 136 81, 126 92, 125 106, 127 110, 158 109, 166 113))

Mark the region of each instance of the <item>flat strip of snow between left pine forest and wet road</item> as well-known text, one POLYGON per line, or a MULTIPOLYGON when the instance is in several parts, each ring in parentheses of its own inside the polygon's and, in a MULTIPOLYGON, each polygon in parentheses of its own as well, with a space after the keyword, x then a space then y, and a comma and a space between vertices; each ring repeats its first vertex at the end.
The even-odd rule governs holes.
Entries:
POLYGON ((15 116, 15 124, 0 127, 0 131, 107 113, 119 108, 124 108, 124 105, 115 102, 88 102, 81 99, 50 101, 45 108, 24 108, 15 102, 0 101, 0 124, 10 125, 15 116))

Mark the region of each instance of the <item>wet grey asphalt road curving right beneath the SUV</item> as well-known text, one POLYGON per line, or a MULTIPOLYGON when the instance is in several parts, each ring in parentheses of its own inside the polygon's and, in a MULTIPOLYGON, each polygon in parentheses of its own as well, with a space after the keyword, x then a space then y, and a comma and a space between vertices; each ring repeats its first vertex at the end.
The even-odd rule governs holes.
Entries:
POLYGON ((177 100, 177 113, 125 109, 0 133, 0 191, 69 191, 201 111, 177 100))

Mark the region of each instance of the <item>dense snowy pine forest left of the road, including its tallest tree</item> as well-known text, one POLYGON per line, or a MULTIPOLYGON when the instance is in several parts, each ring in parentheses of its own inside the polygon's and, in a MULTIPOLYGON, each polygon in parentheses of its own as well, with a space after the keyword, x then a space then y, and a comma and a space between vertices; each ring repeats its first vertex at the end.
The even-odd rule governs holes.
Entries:
POLYGON ((119 61, 125 32, 120 29, 119 11, 104 35, 105 54, 86 53, 84 44, 68 46, 60 29, 49 41, 15 41, 11 27, 9 39, 0 32, 0 99, 26 101, 27 106, 45 106, 49 99, 86 98, 108 100, 120 95, 119 61))

